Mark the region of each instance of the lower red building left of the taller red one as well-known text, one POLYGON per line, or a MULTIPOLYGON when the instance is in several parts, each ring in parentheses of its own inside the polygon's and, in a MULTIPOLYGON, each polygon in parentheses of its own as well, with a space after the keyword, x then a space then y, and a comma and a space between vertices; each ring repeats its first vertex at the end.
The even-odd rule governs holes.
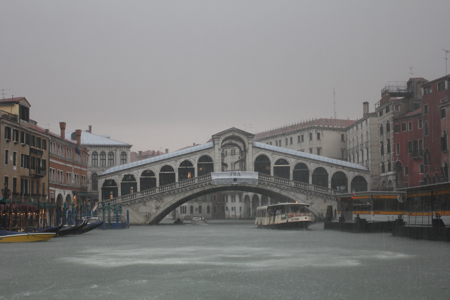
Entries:
POLYGON ((423 184, 422 108, 395 117, 393 129, 395 186, 408 187, 423 184))

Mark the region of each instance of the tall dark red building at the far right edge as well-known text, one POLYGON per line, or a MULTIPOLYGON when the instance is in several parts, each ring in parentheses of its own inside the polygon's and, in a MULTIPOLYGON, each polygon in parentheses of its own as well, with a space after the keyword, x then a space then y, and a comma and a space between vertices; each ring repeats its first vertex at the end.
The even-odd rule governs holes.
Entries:
POLYGON ((422 84, 425 184, 448 181, 449 88, 450 75, 422 84))

